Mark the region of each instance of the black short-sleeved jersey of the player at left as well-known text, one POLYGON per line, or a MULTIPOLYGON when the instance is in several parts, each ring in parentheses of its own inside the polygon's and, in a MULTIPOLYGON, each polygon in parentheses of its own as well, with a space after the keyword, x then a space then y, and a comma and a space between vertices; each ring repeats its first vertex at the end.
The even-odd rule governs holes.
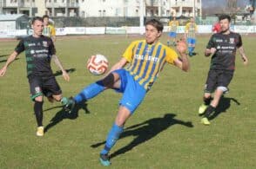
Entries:
POLYGON ((27 36, 22 39, 15 49, 20 54, 25 50, 27 75, 52 76, 51 56, 56 49, 50 37, 27 36))

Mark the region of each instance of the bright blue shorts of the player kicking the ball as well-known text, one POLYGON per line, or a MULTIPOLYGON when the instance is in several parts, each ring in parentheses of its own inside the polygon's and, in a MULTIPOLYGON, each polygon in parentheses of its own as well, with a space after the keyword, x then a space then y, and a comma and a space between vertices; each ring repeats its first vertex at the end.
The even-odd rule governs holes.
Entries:
POLYGON ((113 71, 117 73, 121 80, 121 85, 118 92, 123 93, 119 105, 124 106, 130 110, 131 114, 136 110, 138 105, 145 98, 146 90, 134 80, 133 76, 125 69, 118 69, 113 71))

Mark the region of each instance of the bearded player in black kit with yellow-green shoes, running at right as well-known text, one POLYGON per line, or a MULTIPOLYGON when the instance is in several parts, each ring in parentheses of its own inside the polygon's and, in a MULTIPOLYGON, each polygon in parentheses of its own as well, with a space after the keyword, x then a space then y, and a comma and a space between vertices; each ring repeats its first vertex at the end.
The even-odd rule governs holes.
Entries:
POLYGON ((248 63, 242 47, 241 36, 230 31, 231 17, 219 16, 221 32, 213 34, 205 49, 205 56, 212 55, 211 67, 205 82, 204 104, 199 107, 199 114, 204 117, 201 122, 210 125, 209 117, 219 104, 222 94, 228 91, 235 70, 236 50, 245 65, 248 63), (211 94, 214 92, 213 98, 211 94))

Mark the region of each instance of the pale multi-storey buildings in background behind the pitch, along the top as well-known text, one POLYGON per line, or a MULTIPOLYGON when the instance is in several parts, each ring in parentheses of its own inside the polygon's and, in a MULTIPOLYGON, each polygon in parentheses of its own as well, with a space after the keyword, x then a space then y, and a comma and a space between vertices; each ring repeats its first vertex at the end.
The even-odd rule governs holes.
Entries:
MULTIPOLYGON (((0 14, 137 17, 140 0, 0 0, 0 14)), ((143 0, 144 16, 201 16, 201 0, 143 0)))

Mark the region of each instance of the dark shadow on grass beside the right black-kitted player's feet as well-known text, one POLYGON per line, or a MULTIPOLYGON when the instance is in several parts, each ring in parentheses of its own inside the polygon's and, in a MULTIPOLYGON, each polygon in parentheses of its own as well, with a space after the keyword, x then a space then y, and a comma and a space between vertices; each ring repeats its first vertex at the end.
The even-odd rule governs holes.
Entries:
POLYGON ((222 96, 219 101, 218 107, 216 107, 216 110, 214 114, 212 114, 209 117, 209 120, 215 119, 219 114, 226 112, 226 110, 230 107, 231 101, 235 102, 238 106, 240 105, 239 101, 234 98, 229 98, 222 96))

